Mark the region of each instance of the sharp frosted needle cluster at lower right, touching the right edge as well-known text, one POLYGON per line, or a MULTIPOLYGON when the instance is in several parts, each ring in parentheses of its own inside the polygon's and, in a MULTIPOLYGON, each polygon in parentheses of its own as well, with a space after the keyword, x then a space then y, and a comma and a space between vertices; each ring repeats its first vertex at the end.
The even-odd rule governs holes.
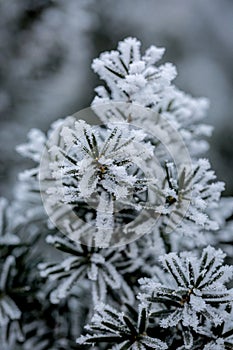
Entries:
POLYGON ((153 279, 142 279, 140 283, 144 291, 141 298, 161 304, 161 309, 167 310, 160 320, 162 327, 182 323, 198 332, 202 317, 215 326, 223 323, 226 311, 220 306, 230 304, 233 298, 233 290, 225 287, 232 279, 233 267, 223 265, 224 257, 221 250, 210 246, 203 250, 200 259, 185 252, 180 256, 176 253, 161 256, 166 280, 160 279, 163 270, 157 270, 153 279))

